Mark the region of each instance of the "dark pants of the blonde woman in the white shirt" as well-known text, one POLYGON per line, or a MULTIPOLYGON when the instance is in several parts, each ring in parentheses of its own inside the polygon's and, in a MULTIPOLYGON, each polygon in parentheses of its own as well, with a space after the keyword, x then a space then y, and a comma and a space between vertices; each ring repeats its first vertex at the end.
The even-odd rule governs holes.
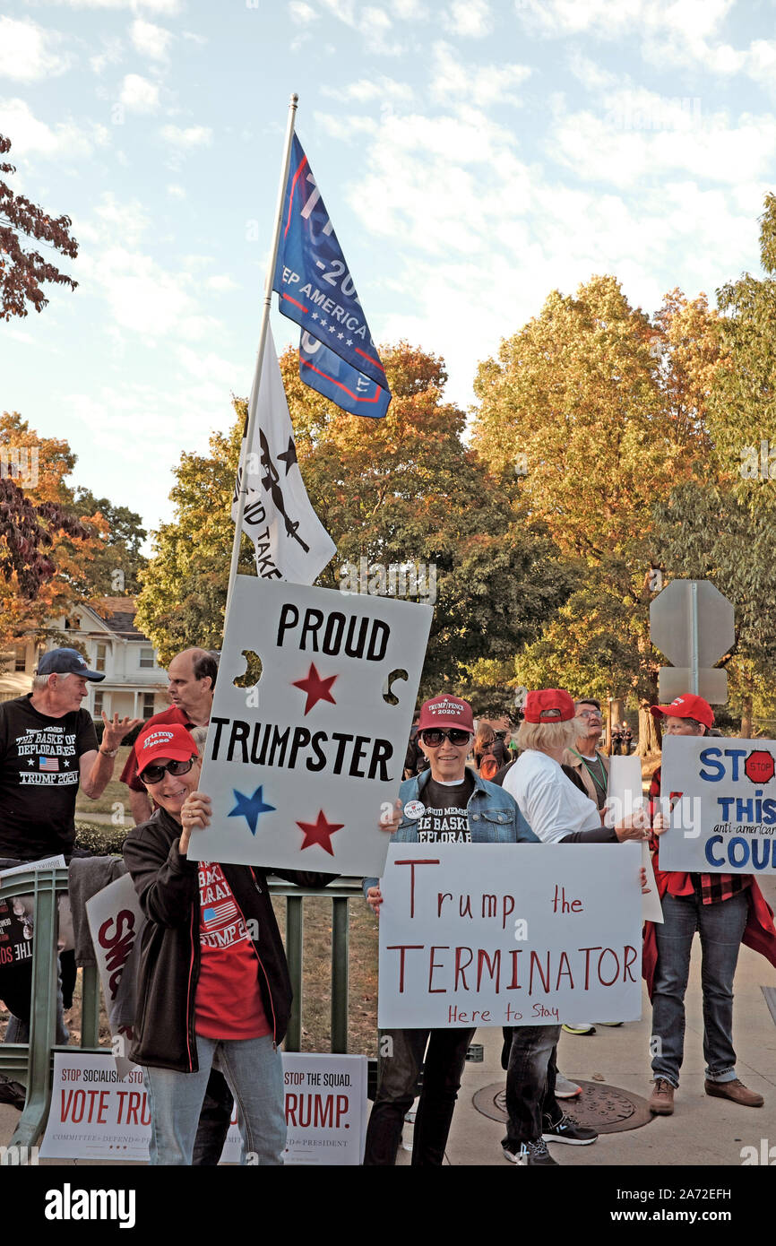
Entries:
POLYGON ((557 1124, 563 1108, 556 1099, 559 1025, 517 1025, 507 1068, 507 1114, 504 1143, 536 1143, 542 1136, 542 1118, 557 1124))

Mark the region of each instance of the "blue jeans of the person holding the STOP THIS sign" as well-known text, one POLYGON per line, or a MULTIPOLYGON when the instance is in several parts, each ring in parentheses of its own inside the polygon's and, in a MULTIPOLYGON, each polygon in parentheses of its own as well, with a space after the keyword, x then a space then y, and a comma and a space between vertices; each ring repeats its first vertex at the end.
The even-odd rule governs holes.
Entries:
POLYGON ((655 925, 658 964, 653 987, 653 1074, 679 1085, 684 1053, 684 994, 690 972, 690 947, 695 931, 701 946, 704 997, 704 1057, 709 1082, 734 1082, 732 978, 749 900, 745 891, 715 905, 700 896, 663 897, 663 923, 655 925), (659 1043, 655 1043, 659 1039, 659 1043))

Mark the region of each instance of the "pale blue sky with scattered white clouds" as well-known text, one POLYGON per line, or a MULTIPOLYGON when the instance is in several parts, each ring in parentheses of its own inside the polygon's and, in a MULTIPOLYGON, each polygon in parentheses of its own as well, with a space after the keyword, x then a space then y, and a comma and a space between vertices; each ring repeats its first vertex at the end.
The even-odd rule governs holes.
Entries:
POLYGON ((11 186, 81 250, 0 325, 0 401, 148 527, 250 384, 291 91, 372 336, 462 406, 553 288, 759 272, 775 0, 5 0, 11 186))

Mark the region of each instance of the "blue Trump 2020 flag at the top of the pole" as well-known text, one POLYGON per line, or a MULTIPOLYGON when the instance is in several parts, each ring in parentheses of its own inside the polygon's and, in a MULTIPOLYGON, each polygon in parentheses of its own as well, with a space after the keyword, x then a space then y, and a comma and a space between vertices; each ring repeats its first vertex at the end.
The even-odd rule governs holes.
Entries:
POLYGON ((303 329, 299 350, 301 379, 345 411, 385 415, 390 402, 385 373, 296 135, 285 186, 273 288, 279 295, 280 312, 303 329), (314 343, 305 341, 305 331, 321 346, 310 349, 314 343), (382 392, 376 395, 376 390, 382 392))

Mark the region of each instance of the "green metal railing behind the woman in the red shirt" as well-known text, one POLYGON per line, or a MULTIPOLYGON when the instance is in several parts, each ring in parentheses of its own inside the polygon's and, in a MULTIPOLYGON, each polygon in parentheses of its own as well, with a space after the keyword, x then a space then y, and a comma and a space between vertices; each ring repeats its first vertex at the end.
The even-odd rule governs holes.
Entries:
MULTIPOLYGON (((361 897, 360 878, 338 878, 328 887, 311 890, 295 887, 279 878, 269 878, 273 896, 285 896, 285 946, 294 991, 294 1003, 285 1038, 285 1049, 298 1052, 301 1045, 304 901, 308 896, 331 900, 331 1050, 348 1052, 348 903, 361 897)), ((57 896, 67 891, 67 870, 30 870, 0 880, 0 897, 35 897, 35 937, 32 939, 32 999, 30 1008, 30 1042, 0 1043, 0 1073, 24 1083, 27 1099, 11 1146, 34 1146, 46 1128, 51 1105, 54 1052, 103 1053, 98 1047, 100 981, 97 968, 86 966, 82 973, 81 1042, 78 1047, 57 1047, 57 896)), ((376 1064, 376 1062, 370 1062, 376 1064)), ((371 1070, 374 1079, 374 1069, 371 1070)), ((7 1156, 0 1164, 9 1163, 7 1156)))

